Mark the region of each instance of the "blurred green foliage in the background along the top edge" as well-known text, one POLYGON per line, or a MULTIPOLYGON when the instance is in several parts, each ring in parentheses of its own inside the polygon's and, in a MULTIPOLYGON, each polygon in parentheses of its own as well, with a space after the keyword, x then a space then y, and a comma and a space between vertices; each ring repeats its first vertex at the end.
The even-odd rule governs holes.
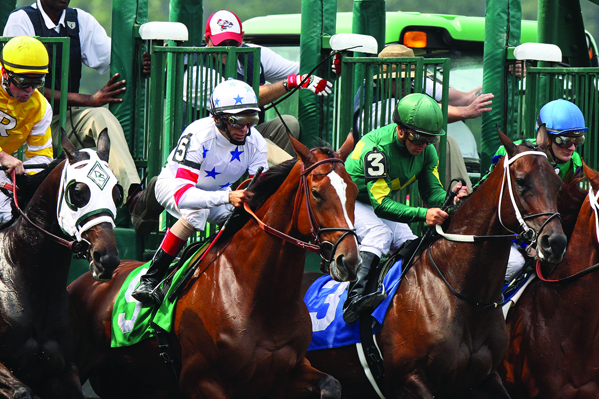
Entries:
MULTIPOLYGON (((575 1, 575 0, 574 0, 575 1)), ((17 7, 32 4, 33 0, 18 0, 17 7)), ((77 7, 91 13, 98 22, 104 26, 108 35, 111 35, 111 0, 71 0, 69 7, 77 7)), ((599 40, 599 6, 588 0, 580 0, 585 28, 599 40)), ((242 21, 252 17, 270 14, 301 13, 301 0, 205 0, 204 20, 202 28, 210 14, 226 8, 237 14, 242 21)), ((338 11, 352 11, 353 0, 337 0, 338 11)), ((459 14, 465 16, 485 16, 485 1, 455 0, 441 2, 438 0, 387 0, 388 11, 418 11, 420 13, 459 14)), ((168 21, 168 1, 149 0, 148 15, 150 21, 168 21)), ((537 19, 537 0, 522 0, 522 18, 537 19)), ((199 21, 198 21, 199 23, 199 21)), ((84 68, 89 69, 89 68, 84 68)), ((98 80, 95 71, 84 72, 82 92, 93 93, 108 80, 98 80), (88 77, 88 78, 86 78, 88 77), (98 86, 99 85, 99 86, 98 86)))

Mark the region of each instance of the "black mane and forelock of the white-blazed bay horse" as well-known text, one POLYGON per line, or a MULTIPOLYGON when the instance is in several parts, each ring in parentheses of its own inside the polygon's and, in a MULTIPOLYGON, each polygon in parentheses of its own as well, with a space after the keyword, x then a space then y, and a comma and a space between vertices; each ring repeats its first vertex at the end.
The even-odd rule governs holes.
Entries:
MULTIPOLYGON (((319 142, 320 146, 316 147, 317 151, 325 154, 326 156, 332 158, 335 156, 332 148, 325 141, 319 142)), ((264 203, 279 190, 279 187, 283 184, 285 179, 291 173, 291 170, 298 162, 298 158, 295 157, 293 159, 286 160, 285 162, 279 163, 279 165, 274 165, 269 167, 268 170, 260 175, 258 181, 256 181, 252 186, 247 188, 249 193, 252 193, 252 197, 247 202, 250 209, 256 211, 259 209, 264 203)), ((231 238, 235 235, 243 226, 246 225, 247 221, 252 218, 250 214, 247 212, 240 212, 239 214, 235 214, 226 228, 226 230, 222 234, 222 241, 226 242, 227 239, 231 238)))

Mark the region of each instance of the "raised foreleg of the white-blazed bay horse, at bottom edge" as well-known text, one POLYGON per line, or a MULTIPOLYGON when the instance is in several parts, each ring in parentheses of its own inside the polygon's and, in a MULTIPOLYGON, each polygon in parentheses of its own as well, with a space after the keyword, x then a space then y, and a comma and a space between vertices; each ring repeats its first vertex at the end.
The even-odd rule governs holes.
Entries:
POLYGON ((304 357, 290 373, 285 374, 273 386, 268 397, 274 399, 305 397, 340 399, 341 384, 329 374, 316 370, 304 357))

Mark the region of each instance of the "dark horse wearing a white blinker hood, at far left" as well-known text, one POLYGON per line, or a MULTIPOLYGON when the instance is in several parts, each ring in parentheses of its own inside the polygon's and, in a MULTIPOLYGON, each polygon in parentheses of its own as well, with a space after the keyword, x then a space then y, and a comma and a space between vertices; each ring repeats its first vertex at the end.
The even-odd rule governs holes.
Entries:
POLYGON ((66 136, 62 147, 67 160, 17 176, 19 205, 28 204, 0 231, 0 395, 5 398, 83 399, 74 363, 76 322, 66 291, 72 252, 78 248, 87 257, 99 280, 109 279, 119 264, 115 215, 108 210, 116 212, 121 194, 108 169, 108 135, 99 135, 97 155, 75 150, 66 136), (81 176, 90 170, 97 173, 94 179, 81 176), (106 190, 89 187, 97 183, 106 190), (73 209, 84 215, 74 218, 73 209), (78 242, 66 240, 65 232, 74 232, 78 242))

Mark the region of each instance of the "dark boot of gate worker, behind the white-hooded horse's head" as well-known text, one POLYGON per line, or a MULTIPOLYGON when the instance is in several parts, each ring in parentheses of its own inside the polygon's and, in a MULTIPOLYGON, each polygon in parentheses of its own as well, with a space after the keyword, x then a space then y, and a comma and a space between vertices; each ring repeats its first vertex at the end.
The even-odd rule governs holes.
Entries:
POLYGON ((158 226, 158 219, 164 207, 156 200, 154 187, 158 177, 153 177, 145 190, 138 191, 127 199, 125 206, 131 214, 131 223, 135 233, 146 236, 158 226))

